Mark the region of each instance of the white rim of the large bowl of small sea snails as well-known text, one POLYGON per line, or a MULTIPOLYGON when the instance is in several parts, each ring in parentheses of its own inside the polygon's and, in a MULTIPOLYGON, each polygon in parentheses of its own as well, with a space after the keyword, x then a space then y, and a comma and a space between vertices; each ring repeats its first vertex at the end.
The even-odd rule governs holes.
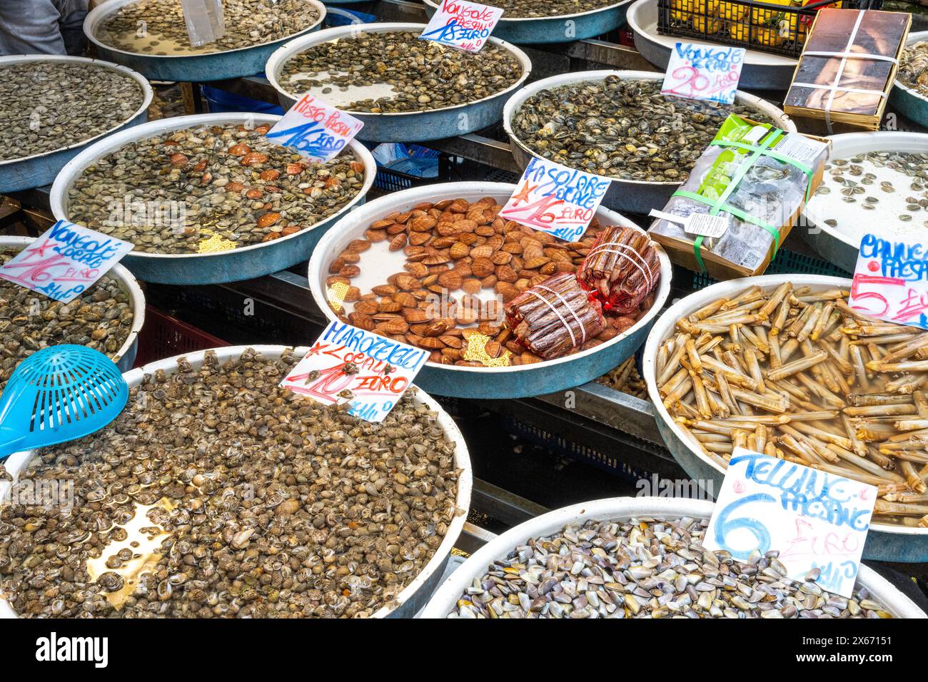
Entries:
MULTIPOLYGON (((246 348, 264 354, 269 359, 277 359, 290 346, 226 346, 224 348, 215 348, 213 352, 220 363, 223 363, 226 360, 237 358, 246 348)), ((294 354, 300 356, 306 354, 309 348, 302 346, 294 348, 293 351, 294 354)), ((135 367, 132 371, 123 373, 122 376, 129 384, 129 388, 133 388, 142 382, 146 374, 154 374, 159 369, 163 369, 169 375, 173 374, 177 369, 177 359, 180 357, 186 357, 193 367, 201 367, 205 354, 206 351, 197 351, 196 353, 175 355, 165 360, 148 363, 148 365, 142 367, 135 367)), ((451 555, 451 548, 458 541, 458 535, 461 529, 464 528, 464 521, 467 521, 467 515, 470 511, 470 489, 473 486, 473 471, 470 468, 470 453, 467 444, 464 442, 464 436, 461 435, 454 420, 427 392, 421 389, 416 390, 415 400, 417 403, 428 405, 429 409, 436 413, 435 419, 438 425, 442 428, 442 431, 445 431, 448 440, 455 444, 455 468, 461 470, 458 476, 458 497, 456 500, 458 513, 448 523, 448 532, 442 539, 442 544, 435 550, 432 559, 425 565, 425 568, 416 576, 415 580, 406 585, 406 588, 388 606, 383 606, 380 610, 375 611, 374 618, 411 618, 425 605, 438 581, 441 580, 442 575, 445 573, 445 564, 447 564, 448 557, 451 555)), ((16 453, 6 460, 6 470, 12 474, 14 480, 19 476, 19 472, 26 468, 26 465, 32 460, 36 452, 36 450, 28 450, 16 453)), ((6 501, 9 491, 10 483, 0 481, 0 501, 6 501)), ((6 600, 0 598, 0 618, 15 617, 16 613, 10 608, 6 600)))

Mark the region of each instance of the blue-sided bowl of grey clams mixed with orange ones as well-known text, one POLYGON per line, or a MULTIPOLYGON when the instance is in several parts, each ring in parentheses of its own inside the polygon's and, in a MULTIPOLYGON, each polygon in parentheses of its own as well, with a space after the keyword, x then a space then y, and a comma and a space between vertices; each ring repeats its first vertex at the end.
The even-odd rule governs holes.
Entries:
POLYGON ((376 164, 354 141, 304 161, 264 137, 279 118, 183 116, 111 135, 58 175, 52 212, 134 243, 123 264, 149 282, 235 281, 305 261, 364 200, 376 164))

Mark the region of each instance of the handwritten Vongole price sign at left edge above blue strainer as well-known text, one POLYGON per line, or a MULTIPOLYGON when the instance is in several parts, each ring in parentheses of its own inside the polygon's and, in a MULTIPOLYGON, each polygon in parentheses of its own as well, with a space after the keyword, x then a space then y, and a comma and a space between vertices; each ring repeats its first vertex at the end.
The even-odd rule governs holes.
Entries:
POLYGON ((0 278, 68 303, 132 249, 128 241, 59 220, 0 267, 0 278))

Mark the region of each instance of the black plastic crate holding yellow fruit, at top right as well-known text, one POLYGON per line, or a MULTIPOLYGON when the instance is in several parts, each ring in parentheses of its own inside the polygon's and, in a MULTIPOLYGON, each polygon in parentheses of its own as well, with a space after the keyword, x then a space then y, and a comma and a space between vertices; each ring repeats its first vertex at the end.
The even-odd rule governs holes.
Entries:
POLYGON ((753 0, 657 0, 657 32, 798 58, 823 7, 879 9, 883 0, 819 0, 806 5, 753 0))

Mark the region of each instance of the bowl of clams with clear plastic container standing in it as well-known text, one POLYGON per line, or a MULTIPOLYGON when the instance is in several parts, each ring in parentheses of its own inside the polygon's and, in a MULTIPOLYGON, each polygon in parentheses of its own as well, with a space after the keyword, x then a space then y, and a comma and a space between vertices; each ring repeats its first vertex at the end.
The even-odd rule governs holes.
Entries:
POLYGON ((317 31, 318 0, 225 0, 225 34, 191 45, 180 0, 110 0, 91 10, 84 33, 100 57, 152 80, 218 81, 264 71, 284 42, 317 31))

